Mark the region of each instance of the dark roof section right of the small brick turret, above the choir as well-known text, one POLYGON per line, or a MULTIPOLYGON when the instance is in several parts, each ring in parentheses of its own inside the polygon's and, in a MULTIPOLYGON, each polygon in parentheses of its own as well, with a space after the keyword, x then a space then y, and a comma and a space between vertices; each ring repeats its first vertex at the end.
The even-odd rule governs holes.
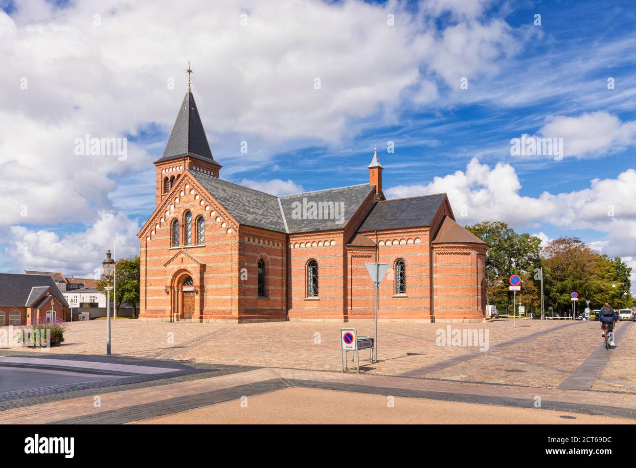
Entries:
POLYGON ((358 232, 430 226, 446 199, 446 194, 398 198, 379 201, 358 229, 358 232))

